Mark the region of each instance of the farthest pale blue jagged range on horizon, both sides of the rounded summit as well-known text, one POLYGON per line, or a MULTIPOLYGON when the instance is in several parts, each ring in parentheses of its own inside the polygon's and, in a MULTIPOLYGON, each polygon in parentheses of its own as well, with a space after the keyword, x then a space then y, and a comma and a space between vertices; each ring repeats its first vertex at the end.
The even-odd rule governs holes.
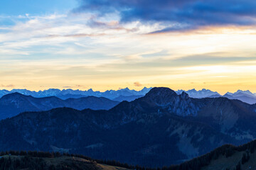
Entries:
MULTIPOLYGON (((95 97, 105 97, 109 98, 113 101, 134 101, 137 98, 140 98, 142 96, 145 96, 146 93, 148 93, 152 88, 146 88, 142 89, 141 91, 135 91, 130 90, 128 88, 125 89, 119 89, 117 91, 109 90, 105 92, 100 91, 93 91, 92 89, 89 89, 87 91, 80 91, 80 90, 73 90, 73 89, 48 89, 45 91, 29 91, 26 89, 13 89, 11 91, 7 90, 0 90, 0 98, 6 94, 12 94, 12 93, 19 93, 26 96, 33 96, 36 98, 42 98, 42 97, 49 97, 49 96, 56 96, 58 98, 61 98, 63 100, 68 98, 82 98, 86 96, 95 96, 95 97)), ((178 90, 176 91, 176 94, 181 94, 184 90, 178 90)), ((240 101, 243 101, 245 103, 254 104, 256 103, 256 94, 252 94, 250 91, 241 91, 238 90, 235 93, 228 92, 227 94, 221 96, 216 91, 210 91, 208 89, 202 89, 199 91, 196 91, 196 89, 191 89, 188 91, 184 91, 188 96, 191 98, 218 98, 218 97, 226 97, 230 99, 238 99, 240 101)))

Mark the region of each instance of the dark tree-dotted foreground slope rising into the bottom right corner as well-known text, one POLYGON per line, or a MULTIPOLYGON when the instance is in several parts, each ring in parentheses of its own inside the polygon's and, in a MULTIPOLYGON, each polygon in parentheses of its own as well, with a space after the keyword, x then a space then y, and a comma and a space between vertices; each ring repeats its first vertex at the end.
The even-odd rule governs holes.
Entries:
POLYGON ((165 167, 166 170, 241 170, 256 169, 256 140, 235 147, 223 145, 179 165, 165 167))

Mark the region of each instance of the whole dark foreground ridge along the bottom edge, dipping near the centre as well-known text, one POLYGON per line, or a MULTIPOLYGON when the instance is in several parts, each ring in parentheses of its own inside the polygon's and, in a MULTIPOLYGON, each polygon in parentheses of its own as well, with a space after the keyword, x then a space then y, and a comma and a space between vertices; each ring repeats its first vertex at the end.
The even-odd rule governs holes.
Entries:
POLYGON ((134 166, 114 160, 99 160, 78 154, 60 152, 1 152, 0 170, 9 169, 106 169, 106 170, 229 170, 256 169, 256 140, 235 147, 223 145, 201 157, 178 165, 152 168, 134 166))

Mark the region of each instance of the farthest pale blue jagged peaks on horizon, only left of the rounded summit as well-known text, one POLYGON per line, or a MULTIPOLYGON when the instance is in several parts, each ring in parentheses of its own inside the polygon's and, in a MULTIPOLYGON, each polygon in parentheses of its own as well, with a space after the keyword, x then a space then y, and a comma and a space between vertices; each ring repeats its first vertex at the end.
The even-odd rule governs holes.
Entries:
MULTIPOLYGON (((146 93, 150 91, 151 88, 142 89, 141 91, 135 91, 130 90, 128 88, 126 89, 119 89, 117 91, 109 90, 105 92, 100 91, 93 91, 92 89, 89 89, 87 91, 80 91, 80 90, 73 90, 73 89, 48 89, 45 91, 29 91, 26 89, 13 89, 11 91, 7 90, 0 90, 0 97, 6 95, 6 94, 12 94, 12 93, 19 93, 26 96, 33 96, 36 98, 42 98, 42 97, 49 97, 49 96, 56 96, 61 99, 67 99, 67 98, 81 98, 85 96, 95 96, 95 97, 105 97, 113 100, 114 98, 122 98, 123 100, 130 100, 129 98, 139 98, 140 96, 144 96, 146 93)), ((120 100, 120 99, 118 99, 120 100)))

